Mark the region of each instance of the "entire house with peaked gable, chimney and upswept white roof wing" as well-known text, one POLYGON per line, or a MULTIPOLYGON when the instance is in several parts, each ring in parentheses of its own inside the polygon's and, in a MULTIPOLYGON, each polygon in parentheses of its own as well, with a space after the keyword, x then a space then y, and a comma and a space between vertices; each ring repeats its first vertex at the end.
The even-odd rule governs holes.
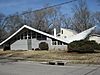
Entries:
POLYGON ((27 25, 22 26, 18 31, 0 43, 3 50, 32 50, 39 48, 41 42, 46 42, 49 50, 67 50, 68 43, 81 40, 87 37, 95 26, 79 34, 73 30, 61 29, 60 33, 54 35, 47 34, 27 25))

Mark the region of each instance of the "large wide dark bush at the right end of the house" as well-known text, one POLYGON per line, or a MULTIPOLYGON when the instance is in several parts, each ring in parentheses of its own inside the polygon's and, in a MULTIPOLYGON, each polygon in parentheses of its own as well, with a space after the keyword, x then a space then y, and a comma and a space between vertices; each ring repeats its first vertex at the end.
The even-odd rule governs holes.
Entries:
POLYGON ((68 45, 68 52, 94 52, 94 50, 100 49, 100 45, 95 41, 80 40, 71 42, 68 45))

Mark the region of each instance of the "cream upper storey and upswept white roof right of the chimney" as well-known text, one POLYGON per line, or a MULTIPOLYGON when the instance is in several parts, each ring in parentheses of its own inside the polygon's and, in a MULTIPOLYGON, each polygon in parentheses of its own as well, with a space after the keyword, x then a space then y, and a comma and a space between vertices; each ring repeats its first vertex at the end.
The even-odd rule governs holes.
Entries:
POLYGON ((83 40, 96 28, 96 26, 89 28, 83 32, 77 33, 74 30, 61 28, 60 33, 57 34, 57 37, 71 43, 73 41, 83 40))

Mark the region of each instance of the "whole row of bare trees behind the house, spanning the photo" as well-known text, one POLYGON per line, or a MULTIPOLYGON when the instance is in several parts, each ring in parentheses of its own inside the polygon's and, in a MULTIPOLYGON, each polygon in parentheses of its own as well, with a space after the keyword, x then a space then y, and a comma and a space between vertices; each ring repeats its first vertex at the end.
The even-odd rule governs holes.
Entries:
MULTIPOLYGON (((49 5, 45 5, 48 7, 49 5)), ((16 13, 5 16, 0 13, 0 42, 13 34, 23 25, 28 25, 38 30, 52 33, 53 28, 70 28, 77 32, 84 31, 97 23, 100 24, 100 12, 92 12, 88 9, 85 0, 80 0, 72 8, 73 16, 63 14, 61 7, 51 7, 44 10, 32 11, 29 9, 22 14, 16 13)))

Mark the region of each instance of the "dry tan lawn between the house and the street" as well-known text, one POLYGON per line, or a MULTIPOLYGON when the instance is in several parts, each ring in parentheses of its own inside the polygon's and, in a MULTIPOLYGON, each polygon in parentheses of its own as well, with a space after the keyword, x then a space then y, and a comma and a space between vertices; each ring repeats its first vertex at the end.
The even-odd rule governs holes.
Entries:
POLYGON ((68 64, 100 64, 100 53, 67 53, 65 51, 0 51, 0 57, 13 60, 66 60, 68 64))

